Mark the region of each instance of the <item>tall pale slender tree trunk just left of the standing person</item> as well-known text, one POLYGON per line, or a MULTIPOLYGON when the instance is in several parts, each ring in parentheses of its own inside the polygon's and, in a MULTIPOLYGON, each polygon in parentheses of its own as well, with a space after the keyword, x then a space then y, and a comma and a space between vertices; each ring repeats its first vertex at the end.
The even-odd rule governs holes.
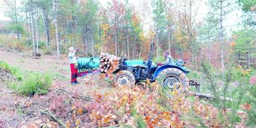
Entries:
POLYGON ((57 58, 60 59, 59 53, 59 31, 58 31, 58 0, 53 0, 53 11, 54 11, 54 27, 56 36, 56 48, 57 48, 57 58))

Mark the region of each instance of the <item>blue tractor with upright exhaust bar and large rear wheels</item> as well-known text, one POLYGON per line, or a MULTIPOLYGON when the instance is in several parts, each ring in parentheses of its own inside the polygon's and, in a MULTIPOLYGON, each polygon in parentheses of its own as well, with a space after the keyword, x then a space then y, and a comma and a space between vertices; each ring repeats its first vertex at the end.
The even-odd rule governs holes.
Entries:
POLYGON ((186 75, 189 74, 190 70, 184 67, 184 61, 181 59, 172 65, 156 65, 152 61, 153 49, 154 43, 151 41, 148 61, 128 61, 122 58, 114 82, 118 85, 135 85, 137 82, 149 79, 150 82, 157 81, 162 87, 171 90, 179 88, 174 86, 176 83, 181 83, 183 87, 197 84, 187 78, 186 75))

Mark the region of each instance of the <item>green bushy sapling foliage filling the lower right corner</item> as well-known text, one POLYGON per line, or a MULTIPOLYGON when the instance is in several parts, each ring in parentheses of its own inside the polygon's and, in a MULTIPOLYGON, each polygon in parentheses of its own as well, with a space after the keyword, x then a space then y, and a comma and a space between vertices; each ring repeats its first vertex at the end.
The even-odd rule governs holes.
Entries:
MULTIPOLYGON (((226 67, 226 75, 224 80, 218 80, 218 70, 211 68, 207 62, 203 63, 203 82, 201 85, 207 86, 204 88, 206 92, 211 93, 216 97, 213 101, 208 101, 220 109, 228 109, 228 113, 220 113, 220 119, 223 115, 229 117, 231 126, 241 122, 242 117, 237 114, 238 111, 244 111, 246 114, 246 125, 255 126, 256 116, 256 86, 249 84, 249 79, 255 74, 255 69, 242 69, 241 66, 226 67), (202 84, 203 83, 203 84, 202 84), (225 100, 226 99, 226 100, 225 100), (250 109, 246 110, 242 106, 249 105, 250 109)), ((192 72, 190 77, 198 77, 197 72, 192 72)), ((226 111, 226 110, 225 110, 226 111)), ((225 121, 225 119, 223 119, 225 121)))

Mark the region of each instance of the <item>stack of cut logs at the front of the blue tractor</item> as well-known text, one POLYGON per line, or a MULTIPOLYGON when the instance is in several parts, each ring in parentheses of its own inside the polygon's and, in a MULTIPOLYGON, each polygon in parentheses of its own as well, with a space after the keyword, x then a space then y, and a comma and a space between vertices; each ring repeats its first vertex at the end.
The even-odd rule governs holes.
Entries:
POLYGON ((100 53, 100 71, 101 73, 112 73, 119 69, 119 61, 114 54, 100 53))

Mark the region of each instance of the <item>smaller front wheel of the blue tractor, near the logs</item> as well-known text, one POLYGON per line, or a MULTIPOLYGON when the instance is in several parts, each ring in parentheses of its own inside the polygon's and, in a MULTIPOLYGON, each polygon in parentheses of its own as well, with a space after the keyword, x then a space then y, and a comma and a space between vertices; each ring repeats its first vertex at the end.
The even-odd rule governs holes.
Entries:
POLYGON ((134 87, 135 77, 132 72, 128 70, 121 70, 117 72, 116 77, 114 78, 114 83, 119 86, 130 86, 134 87))

